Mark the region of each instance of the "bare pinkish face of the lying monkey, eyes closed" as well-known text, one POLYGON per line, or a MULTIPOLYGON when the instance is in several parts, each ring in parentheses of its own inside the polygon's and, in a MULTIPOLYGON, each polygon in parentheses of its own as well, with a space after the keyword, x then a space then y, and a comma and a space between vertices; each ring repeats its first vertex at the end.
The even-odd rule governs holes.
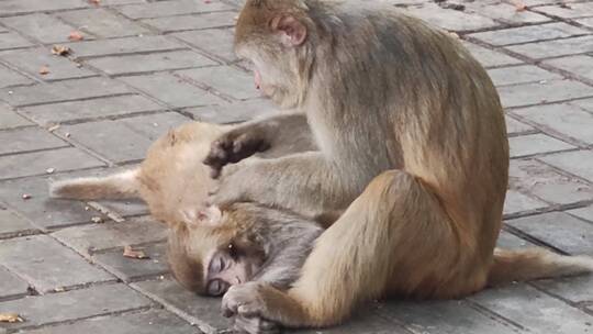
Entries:
POLYGON ((255 264, 246 256, 237 255, 231 247, 228 250, 215 250, 205 263, 206 293, 222 296, 231 286, 249 280, 255 271, 255 264))

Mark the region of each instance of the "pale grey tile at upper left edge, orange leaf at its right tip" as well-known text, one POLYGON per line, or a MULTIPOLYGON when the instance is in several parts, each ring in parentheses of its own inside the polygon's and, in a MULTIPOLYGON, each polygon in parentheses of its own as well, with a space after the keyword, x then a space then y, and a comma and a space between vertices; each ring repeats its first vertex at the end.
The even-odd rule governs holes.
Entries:
POLYGON ((3 18, 0 22, 44 44, 69 42, 68 36, 75 30, 74 26, 46 13, 3 18))

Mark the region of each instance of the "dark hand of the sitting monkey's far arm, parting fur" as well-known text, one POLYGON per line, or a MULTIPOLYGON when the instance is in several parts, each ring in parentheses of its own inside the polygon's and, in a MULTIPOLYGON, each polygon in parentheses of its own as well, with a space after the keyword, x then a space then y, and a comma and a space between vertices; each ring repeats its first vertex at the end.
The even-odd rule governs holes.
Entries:
POLYGON ((212 177, 219 178, 225 165, 238 163, 270 147, 269 133, 258 123, 248 123, 224 133, 212 143, 204 164, 212 168, 212 177))

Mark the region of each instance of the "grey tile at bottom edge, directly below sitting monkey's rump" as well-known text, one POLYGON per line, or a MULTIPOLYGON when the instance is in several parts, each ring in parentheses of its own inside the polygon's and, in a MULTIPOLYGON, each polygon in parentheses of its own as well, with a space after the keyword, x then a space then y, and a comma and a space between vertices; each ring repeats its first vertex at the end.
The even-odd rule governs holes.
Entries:
POLYGON ((517 333, 516 327, 483 315, 463 301, 394 302, 380 312, 418 334, 517 333))

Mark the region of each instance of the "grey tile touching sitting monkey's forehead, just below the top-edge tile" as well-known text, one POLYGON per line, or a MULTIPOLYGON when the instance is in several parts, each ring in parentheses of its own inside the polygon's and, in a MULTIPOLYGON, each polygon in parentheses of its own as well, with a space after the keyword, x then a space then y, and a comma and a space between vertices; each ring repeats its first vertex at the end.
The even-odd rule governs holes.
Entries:
POLYGON ((143 23, 163 32, 199 30, 235 25, 236 12, 212 12, 197 15, 178 15, 155 19, 144 19, 143 23))

